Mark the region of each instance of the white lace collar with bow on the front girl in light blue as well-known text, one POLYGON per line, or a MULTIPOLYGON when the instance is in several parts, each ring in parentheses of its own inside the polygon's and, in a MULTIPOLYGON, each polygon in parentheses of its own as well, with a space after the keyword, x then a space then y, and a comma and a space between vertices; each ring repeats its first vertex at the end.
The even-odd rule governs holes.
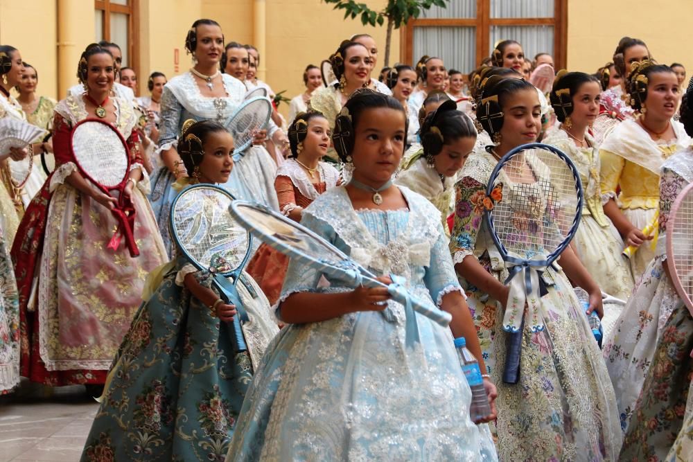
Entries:
MULTIPOLYGON (((437 222, 430 220, 430 217, 437 216, 439 211, 421 195, 404 186, 398 187, 409 204, 410 217, 406 231, 387 245, 380 244, 360 220, 344 187, 333 188, 320 195, 304 213, 332 226, 349 246, 351 258, 359 265, 375 269, 380 274, 405 276, 409 281, 412 274, 410 267, 430 265, 430 249, 439 236, 437 222)), ((382 213, 378 209, 360 211, 369 212, 382 213)))

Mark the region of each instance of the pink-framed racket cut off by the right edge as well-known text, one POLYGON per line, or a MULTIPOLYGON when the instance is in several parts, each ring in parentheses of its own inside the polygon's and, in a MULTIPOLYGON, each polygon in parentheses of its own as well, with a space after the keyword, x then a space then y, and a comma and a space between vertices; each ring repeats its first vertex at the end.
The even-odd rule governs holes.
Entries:
POLYGON ((667 265, 676 293, 693 314, 693 183, 676 197, 667 220, 667 265))

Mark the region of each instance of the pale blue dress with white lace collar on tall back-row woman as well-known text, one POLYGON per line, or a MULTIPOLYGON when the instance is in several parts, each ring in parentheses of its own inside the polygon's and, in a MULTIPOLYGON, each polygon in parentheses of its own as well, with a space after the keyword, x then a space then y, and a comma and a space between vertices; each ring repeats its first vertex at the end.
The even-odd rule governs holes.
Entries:
MULTIPOLYGON (((150 201, 159 223, 161 238, 164 239, 166 251, 173 254, 173 243, 168 234, 168 213, 176 195, 172 188, 175 177, 160 161, 161 152, 175 147, 183 124, 188 119, 195 121, 213 120, 225 125, 236 109, 243 103, 246 88, 243 82, 228 74, 221 74, 227 96, 225 98, 208 98, 202 96, 193 74, 186 72, 177 75, 164 87, 161 95, 161 132, 159 149, 155 152, 154 163, 159 165, 152 172, 152 193, 150 201), (159 158, 159 159, 157 159, 159 158)), ((276 127, 276 125, 275 125, 276 127)), ((268 133, 272 136, 272 132, 268 133)), ((236 161, 231 176, 222 185, 236 199, 247 199, 261 202, 272 208, 278 208, 277 195, 272 184, 277 172, 277 164, 262 146, 252 146, 246 150, 243 158, 236 161)))

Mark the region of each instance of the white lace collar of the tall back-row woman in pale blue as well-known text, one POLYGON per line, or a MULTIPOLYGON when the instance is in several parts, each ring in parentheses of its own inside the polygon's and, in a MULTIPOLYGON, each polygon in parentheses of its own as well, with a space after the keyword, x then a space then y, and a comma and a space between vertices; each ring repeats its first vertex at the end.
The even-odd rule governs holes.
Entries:
POLYGON ((178 103, 196 118, 221 122, 234 114, 238 106, 243 103, 246 92, 245 85, 237 78, 229 74, 221 74, 221 77, 227 94, 221 98, 202 96, 190 72, 176 75, 166 82, 164 91, 173 93, 178 103))

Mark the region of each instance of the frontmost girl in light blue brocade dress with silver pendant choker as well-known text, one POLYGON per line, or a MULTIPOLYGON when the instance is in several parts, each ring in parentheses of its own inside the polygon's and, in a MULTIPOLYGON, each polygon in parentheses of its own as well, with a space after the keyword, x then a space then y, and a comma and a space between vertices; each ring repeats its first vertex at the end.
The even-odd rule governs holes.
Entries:
MULTIPOLYGON (((392 275, 380 281, 453 314, 455 337, 480 353, 438 211, 392 184, 406 136, 397 100, 367 89, 351 96, 333 142, 353 179, 315 199, 301 224, 392 275)), ((293 258, 277 315, 288 326, 254 378, 227 461, 496 460, 490 435, 469 418, 448 328, 390 301, 385 287, 349 290, 293 258), (411 343, 410 328, 419 337, 411 343)))

